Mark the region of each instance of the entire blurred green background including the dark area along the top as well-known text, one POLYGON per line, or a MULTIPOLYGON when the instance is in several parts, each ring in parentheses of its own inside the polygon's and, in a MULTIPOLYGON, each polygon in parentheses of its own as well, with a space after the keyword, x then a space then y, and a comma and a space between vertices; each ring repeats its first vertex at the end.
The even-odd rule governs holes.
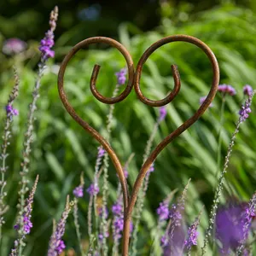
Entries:
MULTIPOLYGON (((235 129, 238 110, 243 102, 242 87, 255 88, 256 70, 256 3, 255 1, 55 1, 60 15, 55 32, 55 60, 49 61, 42 81, 38 101, 32 145, 31 179, 40 175, 33 211, 33 229, 28 237, 25 255, 44 255, 52 229, 52 218, 59 218, 67 194, 79 183, 84 172, 85 185, 93 177, 98 144, 65 112, 58 96, 56 79, 58 65, 74 44, 84 38, 109 36, 119 40, 131 51, 135 62, 143 51, 155 41, 168 35, 184 33, 200 38, 208 44, 219 61, 221 84, 232 84, 237 95, 227 98, 224 126, 222 162, 230 135, 235 129)), ((14 137, 9 155, 7 188, 10 210, 5 225, 5 238, 1 255, 8 255, 15 239, 12 229, 15 221, 15 204, 19 183, 20 157, 26 125, 28 104, 39 60, 38 42, 48 29, 52 1, 1 1, 0 48, 8 38, 20 38, 26 49, 17 55, 0 53, 0 118, 4 119, 4 106, 14 84, 12 66, 20 73, 20 96, 15 107, 20 115, 13 125, 14 137)), ((111 96, 116 78, 114 73, 125 67, 125 60, 115 49, 106 45, 93 45, 81 50, 67 67, 65 87, 73 107, 91 125, 103 134, 109 106, 91 95, 90 74, 94 64, 102 66, 97 88, 104 96, 111 96)), ((163 98, 173 88, 170 66, 177 64, 182 89, 175 101, 167 106, 166 122, 160 125, 154 146, 188 119, 199 108, 199 99, 207 95, 212 71, 206 55, 193 45, 168 44, 151 55, 141 80, 142 90, 152 99, 163 98)), ((139 255, 147 255, 154 239, 155 209, 172 189, 183 189, 189 177, 192 183, 186 206, 188 223, 206 205, 201 220, 199 247, 203 229, 207 226, 207 212, 212 203, 212 191, 217 184, 217 148, 220 129, 219 109, 221 97, 214 99, 214 108, 170 144, 155 162, 140 230, 139 255), (154 200, 152 200, 154 199, 154 200), (152 236, 148 237, 148 232, 152 236)), ((253 112, 256 103, 253 103, 253 112)), ((129 183, 137 177, 142 165, 145 143, 152 131, 158 108, 139 102, 132 92, 124 102, 116 104, 113 119, 112 145, 120 160, 125 163, 131 152, 136 154, 129 169, 129 183)), ((241 125, 230 162, 224 197, 237 197, 247 201, 256 185, 254 113, 241 125)), ((3 121, 0 124, 3 131, 3 121)), ((117 178, 112 164, 109 169, 111 201, 115 200, 117 178)), ((80 220, 83 237, 86 237, 87 200, 80 201, 80 220)), ((224 201, 224 198, 223 198, 224 201)), ((78 252, 72 217, 65 235, 68 255, 73 248, 78 252)))

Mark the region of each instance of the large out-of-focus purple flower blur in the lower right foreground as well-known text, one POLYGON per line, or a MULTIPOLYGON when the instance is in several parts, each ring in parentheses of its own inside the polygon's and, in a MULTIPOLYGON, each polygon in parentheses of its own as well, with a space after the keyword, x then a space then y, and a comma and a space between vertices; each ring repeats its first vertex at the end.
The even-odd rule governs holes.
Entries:
POLYGON ((243 207, 228 205, 220 207, 216 214, 216 237, 222 243, 220 252, 224 255, 235 249, 243 237, 243 207))

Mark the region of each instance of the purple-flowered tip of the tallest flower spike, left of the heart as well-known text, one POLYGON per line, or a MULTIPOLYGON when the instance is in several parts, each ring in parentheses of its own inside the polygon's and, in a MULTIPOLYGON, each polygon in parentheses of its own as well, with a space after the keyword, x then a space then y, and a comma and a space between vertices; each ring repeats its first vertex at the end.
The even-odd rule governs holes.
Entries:
POLYGON ((54 31, 56 27, 56 20, 58 18, 58 9, 55 9, 50 13, 49 16, 49 31, 45 33, 44 38, 41 40, 41 44, 39 50, 42 53, 42 61, 47 61, 49 58, 53 58, 55 56, 54 50, 51 48, 54 46, 54 31))

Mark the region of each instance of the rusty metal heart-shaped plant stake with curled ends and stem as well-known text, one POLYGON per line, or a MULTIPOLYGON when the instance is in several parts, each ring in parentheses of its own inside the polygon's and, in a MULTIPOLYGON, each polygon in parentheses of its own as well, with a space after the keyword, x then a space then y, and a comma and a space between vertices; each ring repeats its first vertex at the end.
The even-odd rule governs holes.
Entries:
POLYGON ((125 49, 125 47, 122 44, 119 44, 119 42, 111 39, 111 38, 102 38, 102 37, 96 37, 96 38, 88 38, 85 39, 84 41, 81 41, 79 44, 76 44, 73 49, 70 50, 70 52, 66 55, 64 60, 61 63, 61 68, 58 76, 58 88, 59 88, 59 93, 61 97, 61 101, 64 105, 64 107, 67 109, 67 112, 73 117, 73 119, 81 125, 85 131, 88 131, 90 135, 96 138, 96 140, 102 144, 102 147, 108 152, 111 160, 113 161, 113 165, 115 166, 116 172, 118 173, 119 176, 119 181, 122 186, 123 190, 123 199, 124 199, 124 231, 123 231, 123 247, 122 247, 122 255, 127 256, 128 255, 128 249, 129 249, 129 236, 130 236, 130 222, 131 222, 131 213, 133 211, 133 208, 135 206, 135 203, 137 201, 137 195, 139 192, 139 189, 141 188, 143 184, 143 178, 145 177, 146 173, 148 172, 148 168, 152 165, 158 154, 162 151, 163 148, 166 147, 167 144, 171 143, 172 140, 176 137, 178 137, 183 131, 189 128, 190 125, 193 125, 197 119, 199 119, 204 113, 208 106, 211 104, 217 90, 218 90, 218 81, 219 81, 219 69, 218 69, 218 61, 216 60, 215 55, 212 53, 212 50, 207 46, 207 44, 204 44, 201 42, 201 40, 197 38, 193 38, 187 35, 174 35, 166 38, 162 38, 156 43, 152 44, 142 55, 140 61, 138 61, 137 64, 137 69, 134 72, 134 67, 133 67, 133 61, 131 58, 130 53, 125 49), (168 135, 162 142, 160 142, 156 148, 152 151, 152 153, 148 156, 148 160, 146 160, 143 164, 142 169, 140 170, 137 180, 134 183, 133 189, 131 191, 131 194, 128 191, 127 188, 127 183, 125 179, 125 175, 123 172, 123 168, 120 164, 118 156, 115 154, 113 151, 113 148, 111 148, 110 144, 107 142, 104 137, 102 137, 95 129, 93 129, 88 123, 86 123, 83 119, 79 117, 79 115, 75 112, 73 107, 70 105, 70 103, 67 101, 67 96, 65 94, 65 91, 63 89, 63 78, 64 78, 64 73, 67 67, 68 61, 71 60, 73 55, 75 55, 79 49, 83 49, 85 46, 89 44, 96 44, 96 43, 105 43, 113 46, 116 49, 119 49, 122 55, 125 57, 125 61, 127 63, 128 67, 128 73, 129 73, 129 79, 128 83, 125 87, 125 90, 116 97, 113 98, 108 98, 105 96, 102 96, 98 90, 96 90, 96 79, 97 75, 100 71, 100 66, 95 65, 91 79, 90 79, 90 90, 92 94, 98 99, 100 102, 104 102, 107 104, 114 104, 116 102, 121 102, 125 99, 126 96, 129 95, 129 93, 132 90, 132 87, 134 85, 136 93, 140 101, 143 103, 152 106, 152 107, 161 107, 169 102, 172 102, 172 100, 177 96, 178 91, 180 90, 180 77, 179 73, 177 70, 177 66, 172 65, 172 74, 173 74, 173 79, 174 79, 174 89, 172 92, 166 96, 166 98, 160 100, 160 101, 152 101, 143 96, 143 93, 140 89, 140 79, 141 79, 141 73, 143 70, 143 65, 144 63, 148 60, 148 57, 154 52, 154 50, 160 48, 160 46, 172 42, 177 42, 177 41, 182 41, 182 42, 187 42, 190 44, 195 44, 197 47, 201 48, 209 58, 212 64, 212 73, 213 73, 213 78, 212 78, 212 87, 211 90, 209 91, 209 94, 205 100, 201 104, 201 107, 195 112, 195 114, 186 120, 183 125, 180 125, 177 130, 172 131, 170 135, 168 135))

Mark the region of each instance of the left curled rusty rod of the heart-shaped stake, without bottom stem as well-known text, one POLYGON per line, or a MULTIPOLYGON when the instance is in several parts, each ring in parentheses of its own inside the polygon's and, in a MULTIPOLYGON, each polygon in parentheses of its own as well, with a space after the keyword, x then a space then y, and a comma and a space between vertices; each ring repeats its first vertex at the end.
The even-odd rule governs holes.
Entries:
POLYGON ((75 112, 71 104, 67 100, 67 95, 65 93, 65 90, 63 88, 64 84, 64 73, 66 71, 67 63, 71 60, 73 55, 75 55, 79 49, 84 48, 85 46, 89 44, 96 44, 96 43, 106 43, 110 44, 116 49, 119 49, 119 51, 124 55, 125 61, 127 62, 128 72, 129 72, 129 79, 127 86, 125 90, 119 95, 114 98, 107 98, 102 96, 97 90, 96 90, 96 78, 99 73, 100 66, 96 65, 93 69, 93 73, 90 79, 90 90, 92 91, 93 95, 96 96, 96 98, 101 101, 108 104, 113 104, 115 102, 120 102, 125 99, 126 96, 129 95, 131 92, 132 86, 133 86, 133 78, 134 78, 134 67, 133 67, 133 61, 131 59, 130 53, 125 49, 125 47, 122 44, 119 44, 119 42, 111 39, 111 38, 103 38, 103 37, 97 37, 97 38, 88 38, 84 41, 81 41, 79 44, 76 44, 73 49, 69 51, 69 53, 65 56, 64 60, 61 62, 60 71, 58 74, 58 90, 61 97, 61 102, 63 103, 64 107, 67 109, 67 112, 73 117, 73 119, 81 125, 85 131, 88 131, 92 137, 95 137, 96 140, 102 144, 102 147, 105 148, 105 150, 108 152, 111 160, 113 161, 113 165, 115 166, 115 169, 119 176, 119 181, 122 186, 123 190, 123 196, 124 196, 124 207, 128 207, 128 200, 129 200, 129 192, 127 187, 127 182, 125 178, 125 174, 123 172, 122 166, 120 164, 119 158, 114 153, 113 148, 111 148, 110 144, 104 137, 102 137, 95 129, 93 129, 87 122, 85 122, 83 119, 81 119, 78 115, 78 113, 75 112))

